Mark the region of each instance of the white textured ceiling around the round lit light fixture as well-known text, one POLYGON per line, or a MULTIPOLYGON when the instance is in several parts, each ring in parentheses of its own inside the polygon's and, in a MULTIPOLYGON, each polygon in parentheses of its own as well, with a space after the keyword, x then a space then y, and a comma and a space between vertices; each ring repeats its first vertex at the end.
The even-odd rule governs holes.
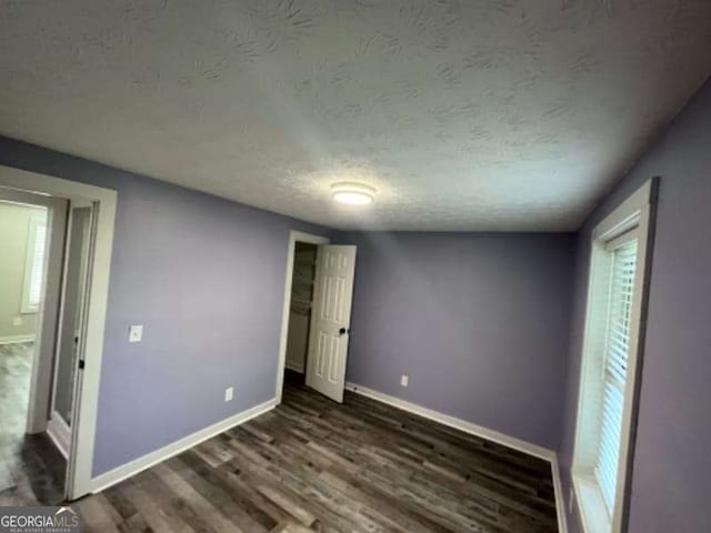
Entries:
POLYGON ((710 71, 709 0, 0 0, 0 133, 334 228, 574 230, 710 71))

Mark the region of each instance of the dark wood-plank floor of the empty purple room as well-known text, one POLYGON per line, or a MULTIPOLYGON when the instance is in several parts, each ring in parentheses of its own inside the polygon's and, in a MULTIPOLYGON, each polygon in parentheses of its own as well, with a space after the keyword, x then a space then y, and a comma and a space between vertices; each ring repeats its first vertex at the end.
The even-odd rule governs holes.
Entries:
POLYGON ((283 404, 73 504, 84 532, 554 532, 550 465, 347 393, 283 404))

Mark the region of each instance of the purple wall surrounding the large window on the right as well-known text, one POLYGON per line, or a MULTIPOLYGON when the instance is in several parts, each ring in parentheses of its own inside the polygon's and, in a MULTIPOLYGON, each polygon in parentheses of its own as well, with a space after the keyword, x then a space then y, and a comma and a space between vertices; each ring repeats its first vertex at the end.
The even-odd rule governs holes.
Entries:
MULTIPOLYGON (((570 467, 591 229, 661 177, 629 531, 711 531, 711 83, 595 210, 578 239, 561 462, 570 467)), ((570 477, 564 475, 567 485, 570 477)), ((565 494, 568 492, 565 491, 565 494)), ((582 531, 577 516, 571 532, 582 531)))

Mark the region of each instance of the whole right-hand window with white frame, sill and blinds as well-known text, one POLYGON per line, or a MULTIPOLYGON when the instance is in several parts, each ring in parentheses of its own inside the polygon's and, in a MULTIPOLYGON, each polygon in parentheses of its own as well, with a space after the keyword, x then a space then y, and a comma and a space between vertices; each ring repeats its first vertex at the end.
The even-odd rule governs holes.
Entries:
POLYGON ((655 182, 647 183, 592 235, 573 459, 587 533, 618 533, 627 520, 654 191, 655 182))

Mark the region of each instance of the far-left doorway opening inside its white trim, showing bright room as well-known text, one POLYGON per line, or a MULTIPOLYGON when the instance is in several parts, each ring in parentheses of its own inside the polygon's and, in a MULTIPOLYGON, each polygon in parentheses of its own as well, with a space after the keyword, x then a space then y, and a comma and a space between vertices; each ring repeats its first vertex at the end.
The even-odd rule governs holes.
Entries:
POLYGON ((3 505, 66 496, 92 213, 89 203, 0 188, 3 505))

